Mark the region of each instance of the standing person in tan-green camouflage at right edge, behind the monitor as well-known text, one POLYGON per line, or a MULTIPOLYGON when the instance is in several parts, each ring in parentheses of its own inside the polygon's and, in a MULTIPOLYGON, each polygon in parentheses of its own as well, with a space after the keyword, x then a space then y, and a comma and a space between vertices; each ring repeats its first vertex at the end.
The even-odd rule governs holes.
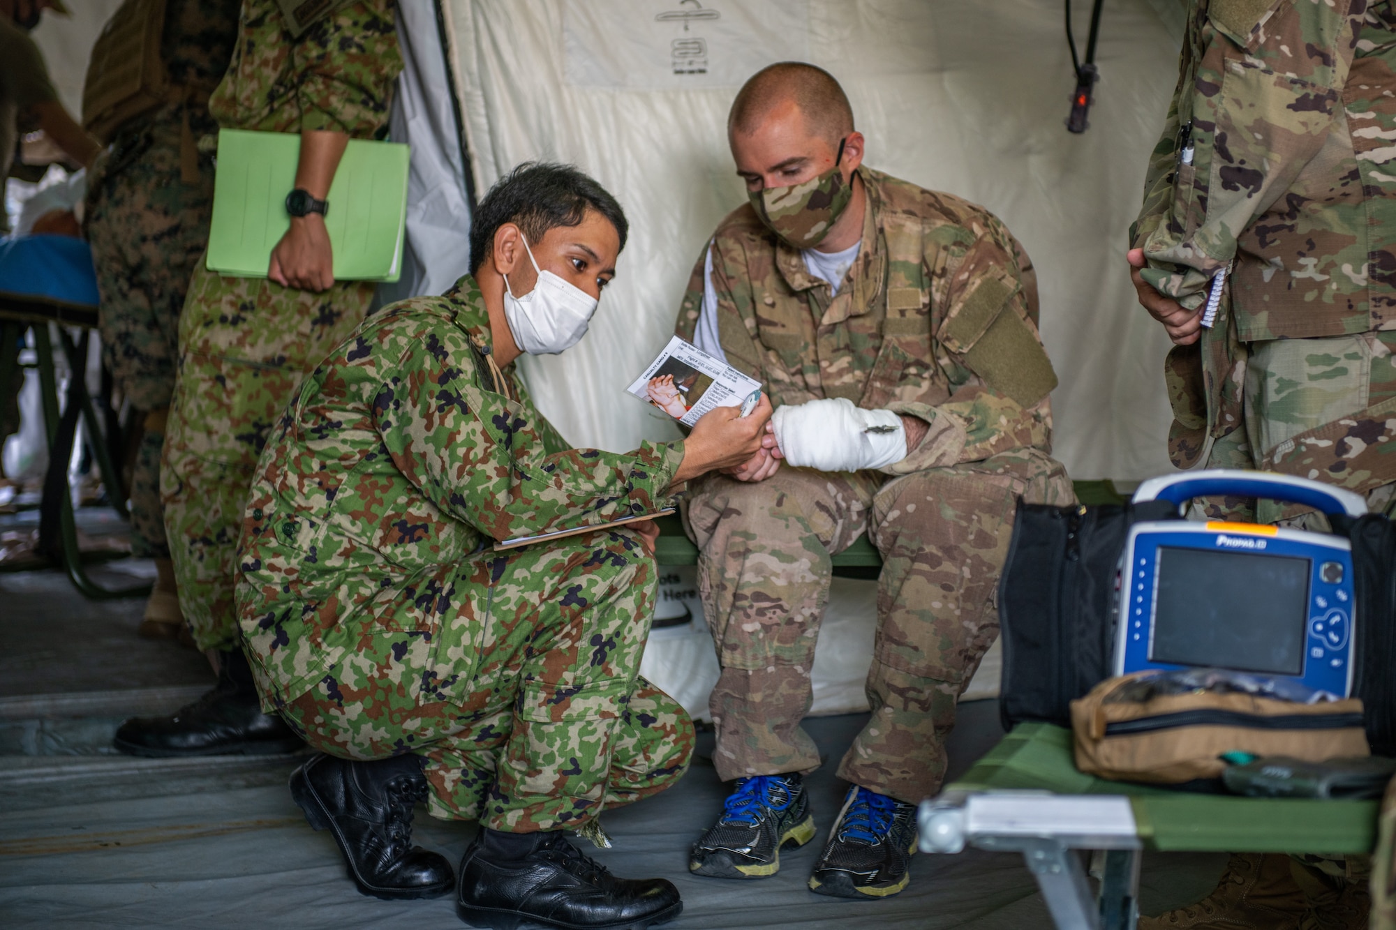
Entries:
MULTIPOLYGON (((1129 251, 1139 302, 1177 344, 1177 466, 1312 478, 1393 511, 1393 68, 1390 0, 1192 4, 1129 251)), ((1315 519, 1273 501, 1205 507, 1315 519)), ((1365 927, 1367 867, 1233 855, 1208 899, 1139 926, 1365 927)))

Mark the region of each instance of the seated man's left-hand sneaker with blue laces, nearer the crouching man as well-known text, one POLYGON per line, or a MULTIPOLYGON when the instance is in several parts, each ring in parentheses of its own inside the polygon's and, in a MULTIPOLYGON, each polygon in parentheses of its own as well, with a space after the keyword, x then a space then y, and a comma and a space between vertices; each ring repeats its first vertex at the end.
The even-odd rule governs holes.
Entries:
POLYGON ((713 878, 764 878, 780 870, 780 848, 814 839, 814 817, 799 775, 741 778, 722 817, 694 843, 688 870, 713 878))

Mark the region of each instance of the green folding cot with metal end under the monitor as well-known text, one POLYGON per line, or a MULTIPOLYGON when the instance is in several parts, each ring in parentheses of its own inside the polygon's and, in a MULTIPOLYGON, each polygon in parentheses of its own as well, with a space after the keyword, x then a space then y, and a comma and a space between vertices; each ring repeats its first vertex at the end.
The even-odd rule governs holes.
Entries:
POLYGON ((1020 723, 919 811, 920 848, 1019 852, 1064 930, 1134 930, 1139 853, 1368 853, 1378 802, 1201 795, 1083 775, 1071 730, 1020 723), (1092 852, 1090 892, 1081 852, 1092 852))

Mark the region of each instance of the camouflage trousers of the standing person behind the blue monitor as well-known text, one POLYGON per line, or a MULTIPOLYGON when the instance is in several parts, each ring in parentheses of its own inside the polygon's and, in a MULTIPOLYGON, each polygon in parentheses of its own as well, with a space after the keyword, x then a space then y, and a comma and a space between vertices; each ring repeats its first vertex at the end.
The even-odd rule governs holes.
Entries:
MULTIPOLYGON (((1213 441, 1208 468, 1275 468, 1297 440, 1315 431, 1344 427, 1353 436, 1343 448, 1364 445, 1383 431, 1396 401, 1396 332, 1360 332, 1318 339, 1275 339, 1247 346, 1237 429, 1213 441), (1362 438, 1365 436, 1365 440, 1362 438)), ((1326 443, 1329 448, 1333 443, 1326 443)), ((1396 507, 1396 461, 1381 472, 1353 475, 1344 459, 1328 457, 1326 466, 1300 473, 1347 487, 1358 487, 1376 512, 1396 507), (1358 483, 1354 485, 1353 479, 1358 483)), ((1396 457, 1383 457, 1396 459, 1396 457)), ((1227 519, 1286 522, 1297 526, 1316 518, 1302 505, 1268 500, 1209 499, 1205 511, 1227 519)))

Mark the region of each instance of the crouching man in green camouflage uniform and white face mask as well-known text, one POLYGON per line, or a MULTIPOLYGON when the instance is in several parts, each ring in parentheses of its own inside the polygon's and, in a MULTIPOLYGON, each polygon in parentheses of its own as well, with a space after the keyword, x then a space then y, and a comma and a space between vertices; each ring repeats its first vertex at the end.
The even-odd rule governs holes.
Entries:
POLYGON ((264 704, 324 753, 292 776, 296 800, 366 894, 450 885, 408 838, 424 795, 483 825, 461 863, 470 923, 642 929, 681 908, 670 883, 614 878, 560 832, 688 764, 692 725, 637 674, 653 525, 489 545, 652 512, 766 441, 769 404, 713 411, 685 443, 572 450, 528 398, 514 359, 582 337, 625 229, 585 175, 519 168, 475 214, 472 274, 335 349, 261 457, 239 620, 264 704))

